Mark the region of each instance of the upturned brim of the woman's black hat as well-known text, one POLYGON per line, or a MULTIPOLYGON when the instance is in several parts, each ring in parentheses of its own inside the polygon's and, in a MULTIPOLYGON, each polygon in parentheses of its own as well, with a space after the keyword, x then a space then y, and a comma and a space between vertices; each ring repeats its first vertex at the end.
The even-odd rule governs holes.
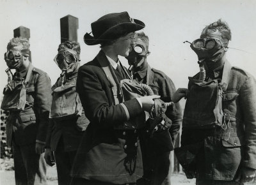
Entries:
POLYGON ((120 24, 116 24, 113 27, 110 27, 107 31, 105 31, 103 34, 99 36, 99 38, 94 38, 89 33, 84 34, 84 43, 86 45, 97 45, 100 43, 103 43, 106 40, 115 40, 115 37, 109 39, 109 36, 115 36, 115 34, 118 36, 122 33, 131 33, 134 31, 138 31, 140 29, 143 29, 145 27, 145 24, 141 22, 140 20, 134 19, 134 23, 132 22, 124 22, 120 24))

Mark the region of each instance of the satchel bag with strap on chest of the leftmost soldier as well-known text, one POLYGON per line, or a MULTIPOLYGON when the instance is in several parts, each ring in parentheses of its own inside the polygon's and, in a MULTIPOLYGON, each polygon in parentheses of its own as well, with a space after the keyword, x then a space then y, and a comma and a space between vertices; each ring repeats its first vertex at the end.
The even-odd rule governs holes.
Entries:
POLYGON ((25 81, 18 82, 11 80, 4 91, 4 98, 1 103, 1 109, 9 111, 21 111, 24 110, 26 105, 26 84, 28 83, 33 66, 30 65, 25 81), (10 88, 12 87, 12 88, 10 88))

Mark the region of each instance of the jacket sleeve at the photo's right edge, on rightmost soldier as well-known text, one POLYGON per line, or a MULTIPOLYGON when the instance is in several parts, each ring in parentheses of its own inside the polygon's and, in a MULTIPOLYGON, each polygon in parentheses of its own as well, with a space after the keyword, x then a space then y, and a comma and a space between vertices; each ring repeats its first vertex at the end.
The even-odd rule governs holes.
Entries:
POLYGON ((245 154, 243 165, 256 169, 256 82, 249 76, 240 89, 241 110, 245 126, 245 154))

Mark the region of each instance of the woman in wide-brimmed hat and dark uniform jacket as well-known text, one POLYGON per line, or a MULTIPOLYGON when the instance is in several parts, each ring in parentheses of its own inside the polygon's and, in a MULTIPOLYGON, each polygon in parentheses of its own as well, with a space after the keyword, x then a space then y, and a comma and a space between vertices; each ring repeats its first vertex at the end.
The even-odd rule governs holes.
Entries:
POLYGON ((90 124, 74 159, 71 184, 136 184, 143 175, 138 131, 127 129, 125 122, 150 111, 159 96, 122 101, 119 83, 129 75, 118 56, 129 55, 134 31, 145 24, 121 12, 104 15, 91 26, 93 36, 86 33, 84 42, 100 44, 101 50, 78 71, 77 92, 90 124))

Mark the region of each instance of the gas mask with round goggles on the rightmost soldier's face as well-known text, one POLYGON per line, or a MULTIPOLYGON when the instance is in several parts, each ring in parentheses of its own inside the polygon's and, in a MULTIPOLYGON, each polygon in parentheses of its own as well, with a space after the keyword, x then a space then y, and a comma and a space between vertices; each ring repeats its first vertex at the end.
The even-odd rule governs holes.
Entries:
POLYGON ((223 46, 223 42, 218 38, 199 38, 190 47, 198 56, 198 61, 216 62, 224 56, 227 48, 223 46))

